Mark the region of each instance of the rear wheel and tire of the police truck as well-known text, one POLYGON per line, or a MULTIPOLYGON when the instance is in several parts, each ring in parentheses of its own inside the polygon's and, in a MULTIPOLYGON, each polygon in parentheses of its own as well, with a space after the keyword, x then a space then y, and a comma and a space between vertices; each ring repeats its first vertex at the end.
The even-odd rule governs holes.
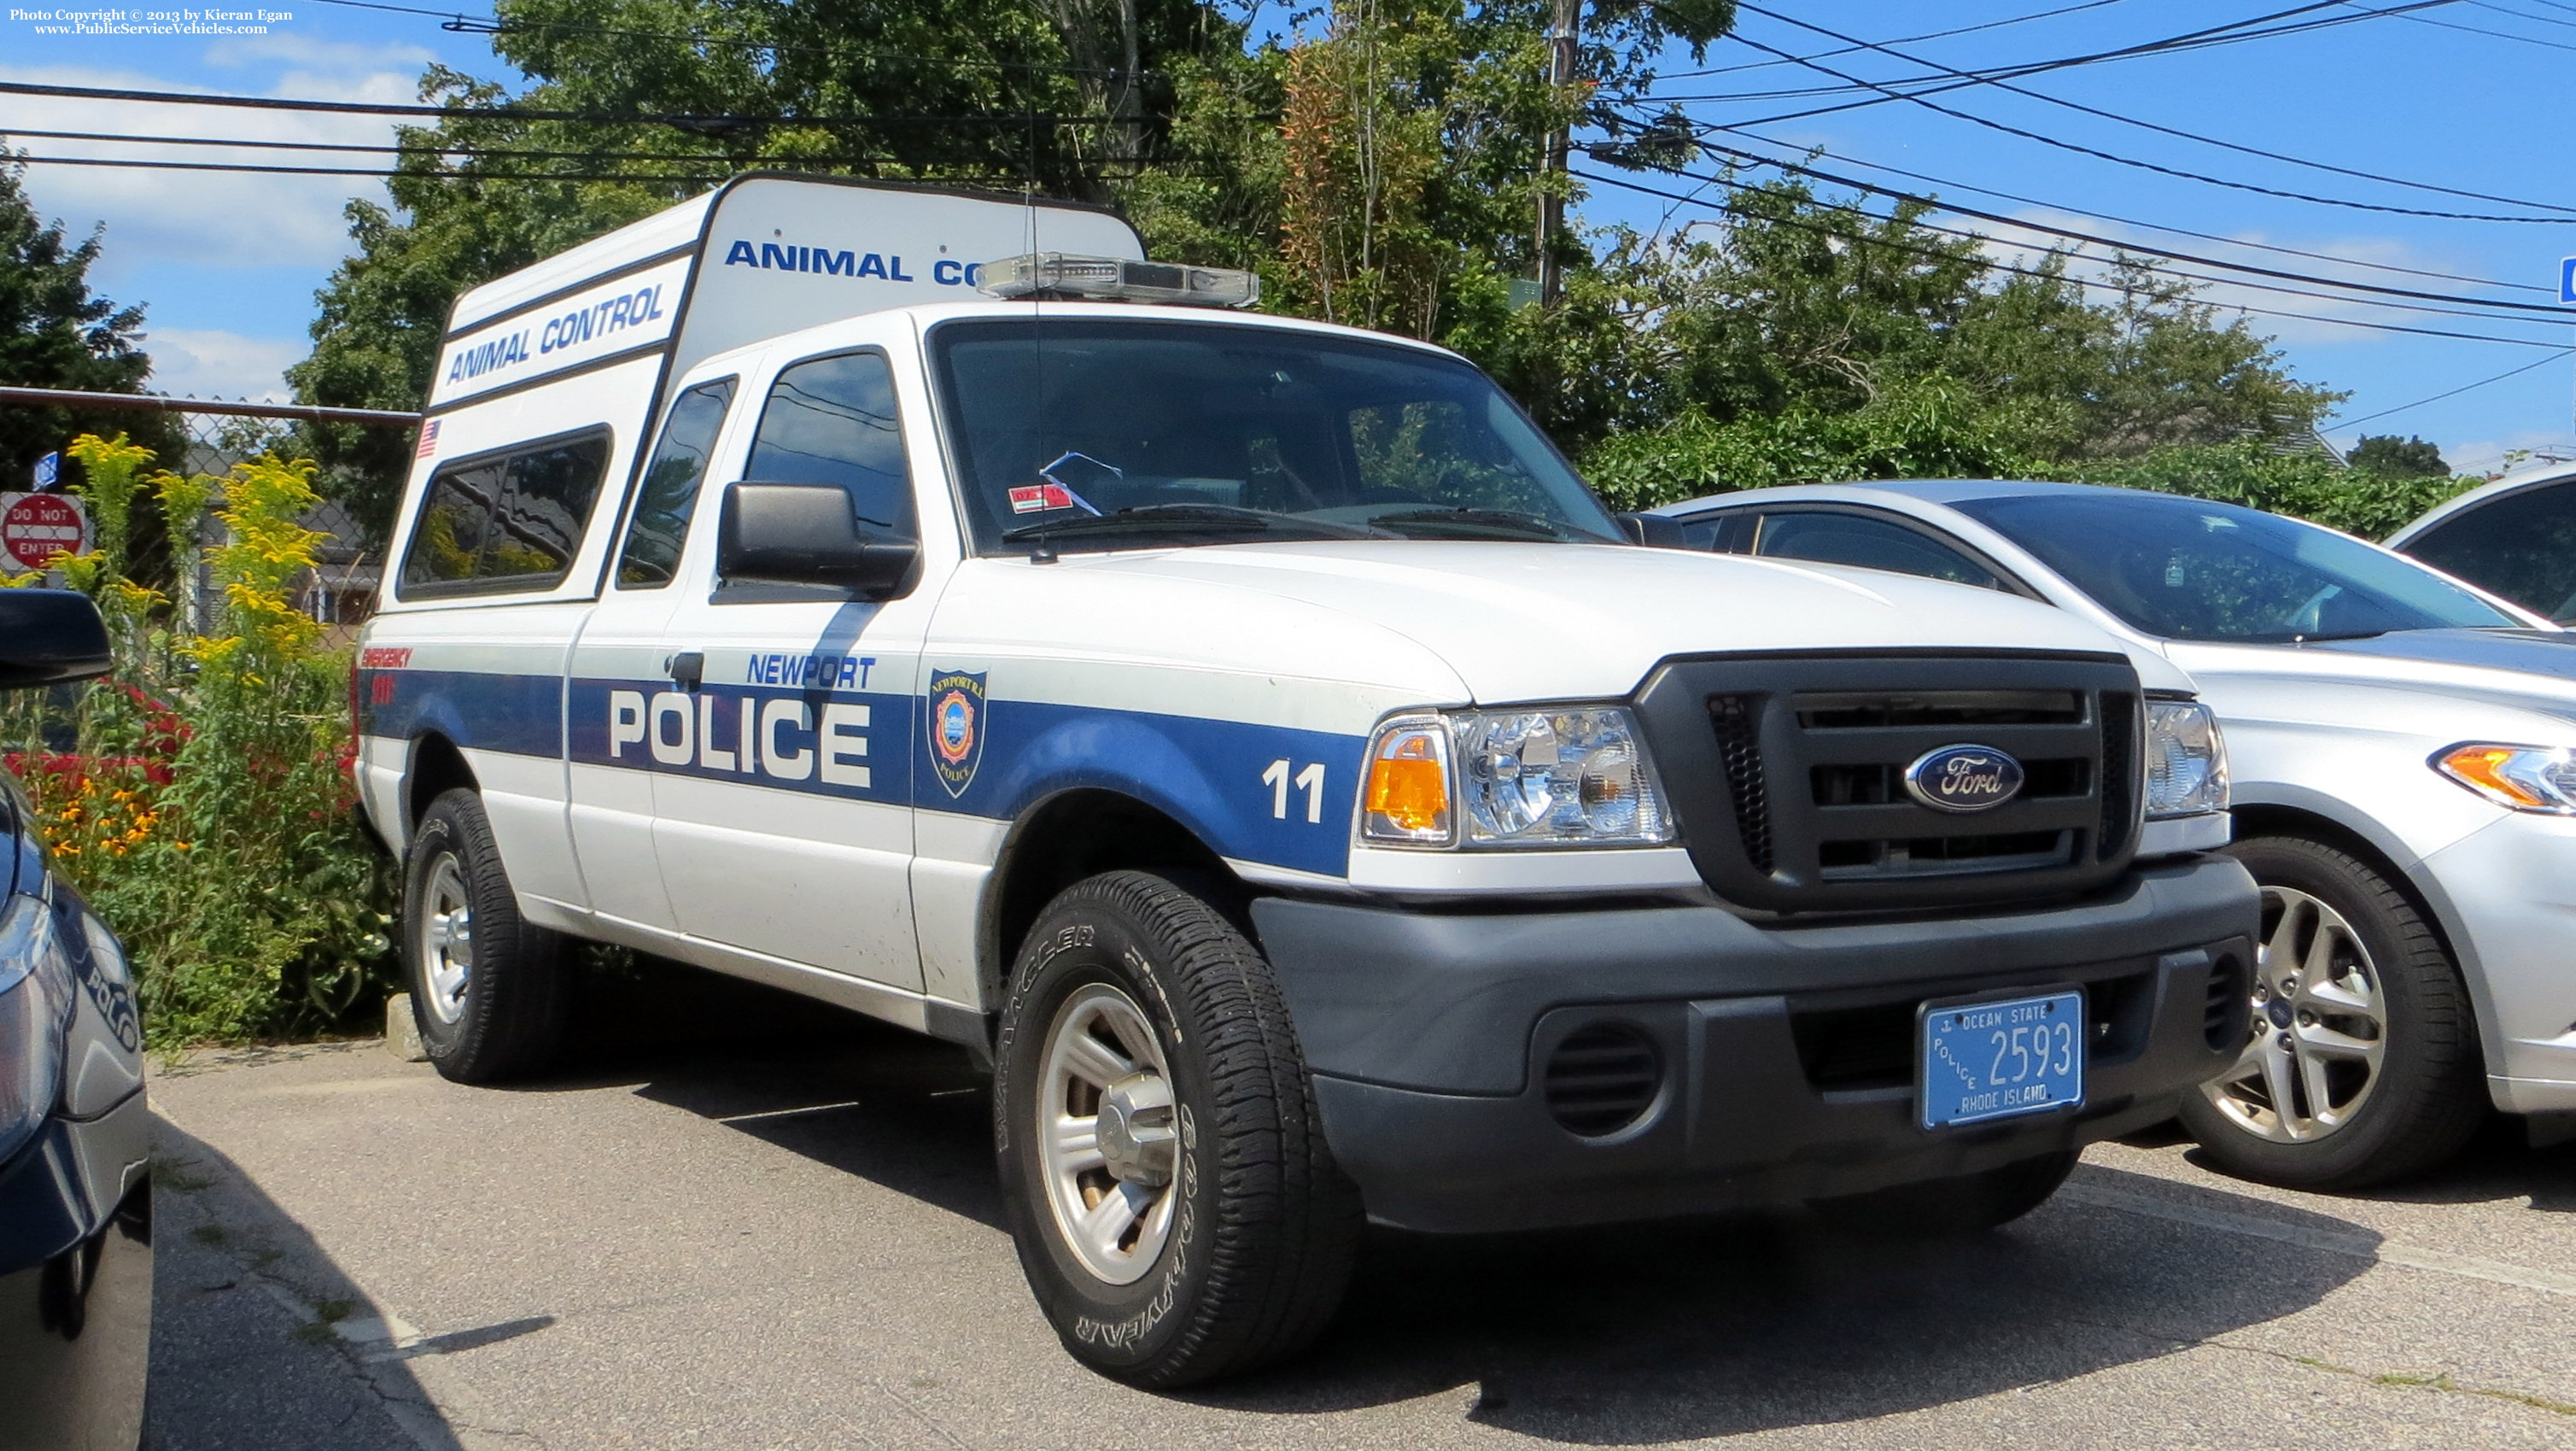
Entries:
POLYGON ((440 794, 412 832, 402 966, 420 1046, 443 1077, 502 1082, 554 1062, 564 1036, 564 941, 520 920, 474 791, 440 794))

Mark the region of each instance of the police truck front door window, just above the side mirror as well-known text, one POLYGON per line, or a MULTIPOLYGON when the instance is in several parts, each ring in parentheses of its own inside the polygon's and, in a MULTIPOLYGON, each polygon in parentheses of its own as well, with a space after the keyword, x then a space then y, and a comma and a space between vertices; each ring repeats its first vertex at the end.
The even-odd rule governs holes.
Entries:
POLYGON ((778 374, 742 477, 757 485, 835 485, 881 533, 912 536, 912 469, 884 353, 806 358, 778 374))

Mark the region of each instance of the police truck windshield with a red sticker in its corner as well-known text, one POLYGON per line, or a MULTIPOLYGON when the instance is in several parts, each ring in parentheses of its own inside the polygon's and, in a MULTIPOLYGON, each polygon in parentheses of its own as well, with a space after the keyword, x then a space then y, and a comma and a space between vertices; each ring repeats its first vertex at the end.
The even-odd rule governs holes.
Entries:
POLYGON ((1224 322, 943 322, 933 366, 976 549, 1252 539, 1618 541, 1476 369, 1224 322))

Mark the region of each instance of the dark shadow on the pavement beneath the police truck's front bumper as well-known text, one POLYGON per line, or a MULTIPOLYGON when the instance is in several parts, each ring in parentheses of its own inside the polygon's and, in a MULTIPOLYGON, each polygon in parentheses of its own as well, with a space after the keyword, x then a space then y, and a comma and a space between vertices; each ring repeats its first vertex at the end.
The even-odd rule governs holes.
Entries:
MULTIPOLYGON (((2099 1168, 2087 1183, 2169 1191, 2099 1168)), ((2259 1209, 2375 1242, 2342 1219, 2259 1209)), ((1473 1240, 1373 1232, 1314 1356, 1190 1399, 1296 1415, 1473 1387, 1471 1420, 1546 1441, 1734 1436, 2169 1356, 2306 1309, 2367 1265, 2066 1201, 1940 1245, 1837 1235, 1803 1214, 1473 1240)))

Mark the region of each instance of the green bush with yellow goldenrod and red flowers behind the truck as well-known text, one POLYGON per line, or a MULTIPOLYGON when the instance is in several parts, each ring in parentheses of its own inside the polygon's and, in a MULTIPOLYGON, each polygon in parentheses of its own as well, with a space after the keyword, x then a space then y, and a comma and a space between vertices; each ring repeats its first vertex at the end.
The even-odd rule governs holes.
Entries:
POLYGON ((116 673, 70 709, 8 701, 8 765, 57 866, 134 954, 152 1044, 332 1026, 389 969, 392 884, 350 814, 350 662, 291 593, 322 539, 296 523, 314 469, 268 456, 222 479, 142 477, 152 454, 124 438, 75 448, 93 508, 131 510, 149 487, 178 541, 219 500, 219 624, 170 629, 113 549, 64 557, 108 619, 116 673), (46 747, 64 735, 72 750, 46 747))

